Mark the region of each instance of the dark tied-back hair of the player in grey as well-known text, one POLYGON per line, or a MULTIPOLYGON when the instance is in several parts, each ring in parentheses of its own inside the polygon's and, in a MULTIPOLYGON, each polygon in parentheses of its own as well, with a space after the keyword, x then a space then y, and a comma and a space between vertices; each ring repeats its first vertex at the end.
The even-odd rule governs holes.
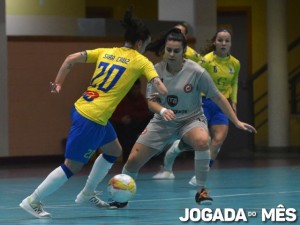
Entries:
POLYGON ((161 35, 158 39, 152 41, 147 45, 146 51, 154 52, 157 56, 162 56, 164 54, 165 45, 167 41, 179 41, 182 43, 183 51, 185 52, 187 41, 181 30, 178 28, 172 28, 165 34, 161 35))

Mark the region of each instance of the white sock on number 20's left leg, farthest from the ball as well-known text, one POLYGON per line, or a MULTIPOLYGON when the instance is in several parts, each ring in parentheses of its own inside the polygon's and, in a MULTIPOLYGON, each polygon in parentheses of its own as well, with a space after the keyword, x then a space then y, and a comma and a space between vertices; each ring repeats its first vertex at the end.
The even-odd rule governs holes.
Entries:
POLYGON ((45 197, 51 195, 53 192, 57 191, 61 186, 63 186, 68 181, 68 178, 59 166, 53 170, 46 179, 35 189, 35 191, 30 196, 31 203, 37 203, 44 199, 45 197))

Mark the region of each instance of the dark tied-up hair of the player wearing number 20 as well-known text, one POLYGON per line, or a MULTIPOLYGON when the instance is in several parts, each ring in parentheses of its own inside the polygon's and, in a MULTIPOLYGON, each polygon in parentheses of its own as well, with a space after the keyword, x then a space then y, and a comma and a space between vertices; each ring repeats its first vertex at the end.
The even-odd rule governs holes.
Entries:
POLYGON ((125 27, 124 39, 131 44, 138 40, 146 41, 151 35, 144 22, 133 15, 132 7, 125 11, 123 20, 120 22, 125 27))

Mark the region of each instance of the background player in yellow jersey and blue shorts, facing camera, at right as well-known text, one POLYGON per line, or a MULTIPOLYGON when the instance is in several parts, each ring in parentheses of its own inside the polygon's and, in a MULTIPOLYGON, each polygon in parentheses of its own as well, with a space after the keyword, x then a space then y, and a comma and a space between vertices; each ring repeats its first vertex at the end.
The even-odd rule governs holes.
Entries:
MULTIPOLYGON (((199 64, 211 75, 215 85, 229 100, 233 111, 236 113, 240 62, 230 54, 231 37, 231 31, 220 28, 204 50, 207 54, 199 61, 199 64)), ((203 96, 202 102, 211 136, 211 167, 227 137, 229 122, 227 116, 210 99, 203 96)), ((162 170, 154 175, 153 179, 174 179, 173 164, 176 156, 182 151, 184 151, 182 144, 179 140, 175 141, 166 152, 162 170)), ((196 185, 195 176, 189 183, 193 186, 196 185)))

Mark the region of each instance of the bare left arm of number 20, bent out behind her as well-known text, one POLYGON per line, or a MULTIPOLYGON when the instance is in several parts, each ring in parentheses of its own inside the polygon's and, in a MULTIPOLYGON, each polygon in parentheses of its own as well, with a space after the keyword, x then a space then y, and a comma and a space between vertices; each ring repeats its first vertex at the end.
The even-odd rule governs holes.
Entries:
POLYGON ((61 86, 64 83, 65 78, 71 72, 72 68, 76 63, 85 63, 87 59, 86 51, 77 52, 71 55, 68 55, 63 64, 61 65, 55 81, 50 83, 51 92, 59 93, 61 90, 61 86))

